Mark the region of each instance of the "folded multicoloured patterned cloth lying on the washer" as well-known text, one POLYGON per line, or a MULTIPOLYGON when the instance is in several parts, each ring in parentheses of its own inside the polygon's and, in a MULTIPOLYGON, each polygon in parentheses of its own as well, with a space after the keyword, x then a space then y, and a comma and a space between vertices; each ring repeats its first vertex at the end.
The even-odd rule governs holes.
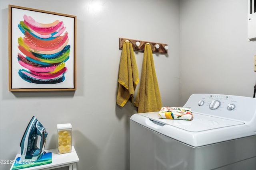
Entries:
POLYGON ((188 107, 162 107, 158 113, 160 119, 192 120, 193 113, 188 107))

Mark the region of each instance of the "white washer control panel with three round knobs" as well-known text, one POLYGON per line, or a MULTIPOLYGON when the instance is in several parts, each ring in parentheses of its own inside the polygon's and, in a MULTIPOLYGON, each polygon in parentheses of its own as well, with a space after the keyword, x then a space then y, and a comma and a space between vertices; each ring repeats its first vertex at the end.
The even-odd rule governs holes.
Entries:
POLYGON ((239 121, 256 117, 256 98, 224 94, 192 94, 184 107, 194 113, 212 115, 239 121))

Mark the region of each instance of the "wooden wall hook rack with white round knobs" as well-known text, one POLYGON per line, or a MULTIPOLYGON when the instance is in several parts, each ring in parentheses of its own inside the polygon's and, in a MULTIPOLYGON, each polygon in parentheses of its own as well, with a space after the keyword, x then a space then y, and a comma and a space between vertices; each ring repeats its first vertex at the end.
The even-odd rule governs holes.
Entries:
POLYGON ((151 45, 152 53, 162 53, 167 54, 168 45, 163 43, 154 43, 149 41, 142 41, 136 39, 128 39, 128 38, 119 38, 119 49, 123 49, 123 45, 125 41, 130 41, 132 43, 132 48, 134 51, 144 51, 146 43, 151 45))

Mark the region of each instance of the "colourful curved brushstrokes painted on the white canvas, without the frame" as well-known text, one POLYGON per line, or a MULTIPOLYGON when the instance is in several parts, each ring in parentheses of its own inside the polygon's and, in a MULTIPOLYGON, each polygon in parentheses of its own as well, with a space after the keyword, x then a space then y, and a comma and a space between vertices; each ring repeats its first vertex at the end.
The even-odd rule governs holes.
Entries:
POLYGON ((68 32, 63 21, 40 23, 24 15, 18 24, 24 35, 18 38, 19 76, 30 83, 57 84, 65 80, 70 55, 68 32))

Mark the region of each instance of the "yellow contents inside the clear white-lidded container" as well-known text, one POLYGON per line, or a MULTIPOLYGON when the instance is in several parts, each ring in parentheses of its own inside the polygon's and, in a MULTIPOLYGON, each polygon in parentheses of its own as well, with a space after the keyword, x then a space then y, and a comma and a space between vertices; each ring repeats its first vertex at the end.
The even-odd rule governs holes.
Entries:
POLYGON ((68 131, 58 131, 58 151, 71 152, 71 135, 68 131))

